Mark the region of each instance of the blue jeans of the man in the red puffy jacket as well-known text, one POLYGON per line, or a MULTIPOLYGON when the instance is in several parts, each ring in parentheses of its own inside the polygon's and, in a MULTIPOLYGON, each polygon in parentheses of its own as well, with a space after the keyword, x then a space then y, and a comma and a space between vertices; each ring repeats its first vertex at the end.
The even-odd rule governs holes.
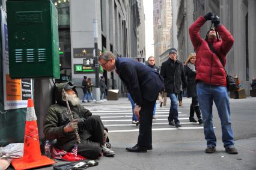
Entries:
POLYGON ((197 95, 204 122, 204 136, 207 141, 207 146, 216 147, 217 141, 213 130, 213 102, 215 102, 219 118, 221 119, 222 141, 224 147, 226 148, 234 145, 227 87, 198 82, 197 95))

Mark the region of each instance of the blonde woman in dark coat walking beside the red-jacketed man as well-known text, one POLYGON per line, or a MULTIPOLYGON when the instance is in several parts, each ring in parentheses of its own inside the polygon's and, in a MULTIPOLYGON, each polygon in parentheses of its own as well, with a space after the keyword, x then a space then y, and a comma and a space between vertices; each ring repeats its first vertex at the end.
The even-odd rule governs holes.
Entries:
POLYGON ((189 121, 196 123, 194 118, 194 112, 197 114, 198 123, 203 124, 201 118, 201 111, 198 104, 197 98, 197 84, 195 83, 195 76, 197 71, 195 70, 196 54, 190 53, 189 57, 184 63, 184 73, 187 77, 187 97, 192 97, 192 103, 190 105, 189 121))

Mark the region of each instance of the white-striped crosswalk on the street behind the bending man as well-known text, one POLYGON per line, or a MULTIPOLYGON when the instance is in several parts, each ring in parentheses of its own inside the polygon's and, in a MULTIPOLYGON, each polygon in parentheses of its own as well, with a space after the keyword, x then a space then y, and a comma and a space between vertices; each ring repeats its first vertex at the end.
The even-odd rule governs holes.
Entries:
MULTIPOLYGON (((132 109, 131 108, 113 108, 113 109, 97 109, 91 111, 93 115, 99 115, 105 127, 108 127, 109 133, 120 132, 138 132, 139 126, 132 124, 132 109)), ((178 119, 182 127, 176 128, 168 124, 169 109, 156 109, 156 120, 153 120, 152 130, 198 130, 203 129, 198 123, 190 123, 189 115, 178 112, 178 119)))

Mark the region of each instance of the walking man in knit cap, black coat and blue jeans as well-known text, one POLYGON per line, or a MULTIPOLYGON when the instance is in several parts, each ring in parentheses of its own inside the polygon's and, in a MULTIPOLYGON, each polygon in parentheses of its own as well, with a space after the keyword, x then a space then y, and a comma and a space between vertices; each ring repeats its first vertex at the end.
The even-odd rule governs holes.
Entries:
POLYGON ((181 127, 178 120, 177 96, 180 93, 180 86, 183 83, 183 89, 186 88, 186 78, 183 70, 182 62, 177 60, 177 50, 171 48, 169 50, 169 58, 162 63, 161 76, 165 79, 165 92, 169 94, 171 99, 171 107, 169 111, 169 125, 181 127))

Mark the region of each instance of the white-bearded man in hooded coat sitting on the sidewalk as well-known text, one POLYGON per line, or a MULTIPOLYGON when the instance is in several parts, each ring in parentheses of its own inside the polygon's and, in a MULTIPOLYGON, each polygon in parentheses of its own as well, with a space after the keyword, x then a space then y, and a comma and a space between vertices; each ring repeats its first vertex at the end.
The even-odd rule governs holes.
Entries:
POLYGON ((59 83, 54 92, 56 103, 47 111, 44 117, 43 132, 46 139, 56 139, 56 148, 72 152, 76 143, 75 129, 78 129, 81 144, 78 144, 78 154, 81 156, 97 159, 103 156, 114 156, 110 145, 106 145, 107 131, 102 120, 97 115, 80 105, 76 88, 73 83, 59 83), (62 89, 67 93, 74 120, 70 121, 66 101, 62 97, 62 89))

